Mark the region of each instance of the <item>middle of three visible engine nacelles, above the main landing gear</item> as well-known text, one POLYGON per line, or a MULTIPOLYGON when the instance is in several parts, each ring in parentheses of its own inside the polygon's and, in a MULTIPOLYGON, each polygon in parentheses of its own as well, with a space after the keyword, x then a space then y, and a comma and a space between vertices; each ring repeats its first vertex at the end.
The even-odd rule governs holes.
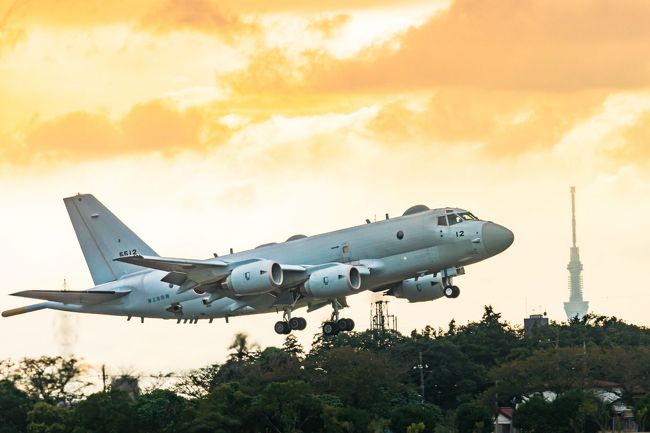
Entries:
POLYGON ((314 272, 305 281, 305 292, 315 298, 336 298, 361 288, 361 274, 350 265, 335 265, 314 272))

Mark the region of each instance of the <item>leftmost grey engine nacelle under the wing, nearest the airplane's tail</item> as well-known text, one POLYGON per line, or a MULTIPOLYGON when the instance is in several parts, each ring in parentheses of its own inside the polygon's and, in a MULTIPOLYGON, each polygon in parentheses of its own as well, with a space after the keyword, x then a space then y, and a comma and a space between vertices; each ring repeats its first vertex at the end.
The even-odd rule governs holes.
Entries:
POLYGON ((271 260, 259 260, 237 266, 232 270, 226 285, 238 295, 259 295, 282 285, 282 267, 271 260))

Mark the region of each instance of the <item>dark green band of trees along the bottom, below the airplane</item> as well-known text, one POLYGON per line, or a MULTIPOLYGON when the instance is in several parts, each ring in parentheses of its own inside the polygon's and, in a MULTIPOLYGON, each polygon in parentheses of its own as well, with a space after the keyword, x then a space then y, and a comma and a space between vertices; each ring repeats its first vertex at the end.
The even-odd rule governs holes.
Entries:
POLYGON ((293 335, 261 350, 238 334, 229 348, 223 364, 191 370, 170 390, 159 388, 177 374, 160 375, 132 397, 84 397, 75 358, 0 361, 0 433, 483 433, 497 397, 521 403, 522 433, 592 433, 612 423, 593 392, 603 386, 621 389, 650 429, 650 330, 615 317, 524 334, 486 306, 480 321, 452 320, 446 331, 319 334, 306 354, 293 335))

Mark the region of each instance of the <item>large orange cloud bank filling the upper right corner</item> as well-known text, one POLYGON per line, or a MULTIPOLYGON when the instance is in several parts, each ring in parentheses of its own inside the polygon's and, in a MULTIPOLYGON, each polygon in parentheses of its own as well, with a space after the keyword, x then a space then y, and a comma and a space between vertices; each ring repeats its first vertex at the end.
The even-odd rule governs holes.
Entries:
MULTIPOLYGON (((648 22, 650 2, 457 0, 351 59, 308 51, 273 60, 297 69, 287 80, 312 92, 630 89, 650 84, 648 22)), ((243 76, 259 73, 250 69, 264 57, 243 76)))

